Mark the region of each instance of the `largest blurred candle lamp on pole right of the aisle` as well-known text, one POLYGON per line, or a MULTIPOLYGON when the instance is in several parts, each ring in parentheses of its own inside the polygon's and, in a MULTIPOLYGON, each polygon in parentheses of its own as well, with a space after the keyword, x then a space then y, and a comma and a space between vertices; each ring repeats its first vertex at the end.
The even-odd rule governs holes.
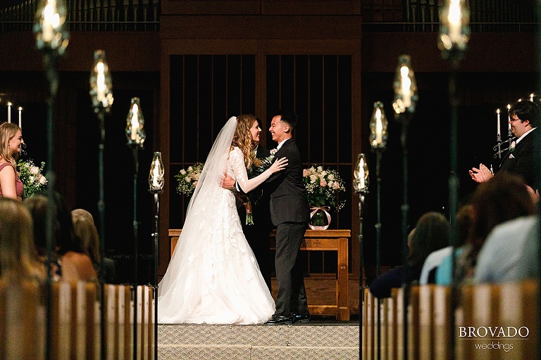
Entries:
MULTIPOLYGON (((460 60, 466 52, 466 44, 468 43, 470 29, 469 11, 464 5, 464 0, 447 0, 446 5, 441 8, 440 19, 442 24, 440 27, 440 36, 438 37, 438 47, 442 51, 442 57, 448 59, 452 64, 452 71, 449 75, 449 103, 451 104, 451 129, 450 129, 450 165, 451 174, 449 176, 449 220, 451 221, 451 232, 449 234, 449 245, 451 245, 451 268, 452 268, 452 288, 451 288, 451 326, 454 328, 454 309, 456 307, 456 284, 454 281, 454 246, 458 235, 458 227, 456 224, 456 210, 458 207, 459 198, 459 179, 456 176, 457 167, 457 147, 458 147, 458 96, 456 95, 456 74, 458 72, 460 60)), ((499 110, 498 110, 499 111, 499 110)), ((499 113, 498 113, 499 118, 499 113)), ((497 136, 499 137, 499 131, 497 136)), ((498 141, 501 140, 497 139, 498 141)), ((498 146, 499 148, 499 146, 498 146)), ((455 335, 451 333, 450 348, 454 354, 455 335)))

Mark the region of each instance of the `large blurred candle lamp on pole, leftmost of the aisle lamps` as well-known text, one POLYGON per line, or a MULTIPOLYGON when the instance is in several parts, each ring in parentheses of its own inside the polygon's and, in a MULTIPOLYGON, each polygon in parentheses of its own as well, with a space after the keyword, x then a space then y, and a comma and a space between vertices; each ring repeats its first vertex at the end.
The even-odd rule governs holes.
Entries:
POLYGON ((46 308, 46 340, 45 340, 45 359, 51 357, 51 260, 54 250, 54 107, 56 95, 58 94, 58 58, 63 55, 68 46, 69 32, 66 27, 66 5, 63 0, 41 0, 39 1, 35 15, 34 33, 36 37, 37 49, 42 51, 44 70, 47 81, 49 82, 49 98, 47 98, 47 117, 46 117, 46 139, 47 153, 46 159, 49 166, 46 174, 47 186, 46 196, 49 198, 46 208, 46 286, 45 286, 45 308, 46 308))

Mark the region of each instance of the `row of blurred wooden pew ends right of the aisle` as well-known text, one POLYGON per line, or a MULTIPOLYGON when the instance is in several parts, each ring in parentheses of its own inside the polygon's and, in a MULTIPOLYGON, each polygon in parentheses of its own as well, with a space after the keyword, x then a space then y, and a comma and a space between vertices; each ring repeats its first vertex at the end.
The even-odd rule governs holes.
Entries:
MULTIPOLYGON (((408 359, 540 359, 537 291, 537 281, 464 285, 458 290, 452 327, 450 287, 411 287, 408 359)), ((378 359, 378 299, 368 288, 363 295, 362 359, 378 359)), ((380 301, 382 360, 403 358, 403 296, 402 289, 392 289, 392 296, 380 301)))

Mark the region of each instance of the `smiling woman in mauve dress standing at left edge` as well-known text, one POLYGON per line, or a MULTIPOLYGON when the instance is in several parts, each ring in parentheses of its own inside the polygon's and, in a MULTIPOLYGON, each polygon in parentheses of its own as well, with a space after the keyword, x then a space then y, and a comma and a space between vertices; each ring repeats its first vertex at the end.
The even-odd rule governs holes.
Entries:
POLYGON ((23 132, 13 122, 0 124, 0 196, 23 200, 24 186, 17 174, 16 166, 23 132))

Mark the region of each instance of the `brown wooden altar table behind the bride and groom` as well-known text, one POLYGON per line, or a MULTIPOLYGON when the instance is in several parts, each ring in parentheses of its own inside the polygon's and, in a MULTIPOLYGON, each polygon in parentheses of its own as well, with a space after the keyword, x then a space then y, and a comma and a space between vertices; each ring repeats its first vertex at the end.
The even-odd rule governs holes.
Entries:
MULTIPOLYGON (((169 229, 171 242, 171 255, 177 245, 182 229, 169 229)), ((270 233, 270 247, 275 248, 275 231, 270 233)), ((347 294, 347 279, 349 266, 347 264, 347 243, 352 236, 351 230, 306 230, 301 250, 336 251, 338 269, 336 276, 336 304, 309 305, 310 314, 336 315, 339 321, 349 321, 349 307, 347 294)))

